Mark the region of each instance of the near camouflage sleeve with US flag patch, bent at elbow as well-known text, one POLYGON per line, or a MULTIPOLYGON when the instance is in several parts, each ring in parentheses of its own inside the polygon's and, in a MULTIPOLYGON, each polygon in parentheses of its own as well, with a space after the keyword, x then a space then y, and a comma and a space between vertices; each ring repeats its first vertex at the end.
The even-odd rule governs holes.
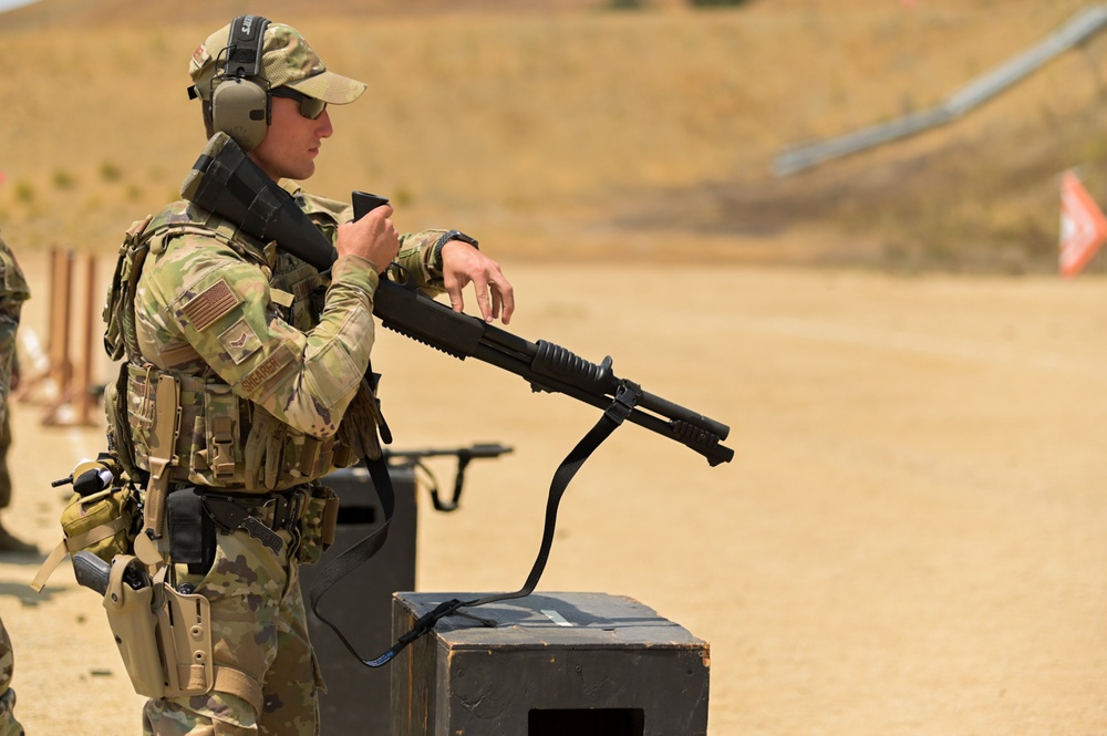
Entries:
POLYGON ((216 240, 179 237, 151 260, 135 298, 143 355, 169 367, 159 361, 187 343, 236 394, 281 422, 315 437, 337 432, 373 345, 377 276, 369 261, 334 263, 319 324, 301 332, 271 298, 268 274, 216 240))

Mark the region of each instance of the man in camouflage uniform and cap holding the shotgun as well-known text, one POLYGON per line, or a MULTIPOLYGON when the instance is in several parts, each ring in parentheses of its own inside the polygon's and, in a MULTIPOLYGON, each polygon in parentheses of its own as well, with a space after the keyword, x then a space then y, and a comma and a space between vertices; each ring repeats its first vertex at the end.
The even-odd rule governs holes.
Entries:
MULTIPOLYGON (((228 29, 211 34, 189 65, 208 135, 211 80, 228 53, 228 29)), ((333 132, 323 103, 351 103, 366 85, 328 71, 288 25, 271 23, 263 38, 271 120, 250 157, 275 180, 307 179, 333 132)), ((148 469, 158 442, 148 422, 157 410, 153 385, 174 376, 180 431, 168 470, 170 502, 187 487, 205 498, 232 498, 283 541, 275 553, 242 529, 216 525, 209 567, 174 564, 178 590, 210 601, 217 676, 205 694, 149 701, 145 734, 319 733, 323 683, 298 566, 322 553, 321 509, 333 494, 317 480, 380 452, 377 403, 365 379, 379 280, 395 261, 404 278, 447 292, 458 311, 470 283, 486 320, 507 322, 514 310, 510 283, 467 236, 401 237, 390 206, 352 222, 349 205, 283 186, 334 243, 339 258, 329 273, 187 201, 128 232, 127 242, 148 243, 148 255, 134 302, 117 320, 127 360, 115 402, 125 403, 125 421, 114 426, 130 436, 113 442, 128 444, 135 464, 148 469), (235 677, 221 683, 220 670, 235 677)), ((168 537, 172 550, 172 529, 168 537)))

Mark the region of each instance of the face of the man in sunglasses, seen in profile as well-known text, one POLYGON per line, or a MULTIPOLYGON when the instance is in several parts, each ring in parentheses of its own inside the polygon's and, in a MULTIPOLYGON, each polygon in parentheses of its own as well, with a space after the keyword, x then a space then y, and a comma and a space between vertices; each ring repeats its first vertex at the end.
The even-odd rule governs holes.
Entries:
POLYGON ((332 133, 328 111, 310 120, 300 114, 300 103, 273 97, 269 131, 250 157, 273 180, 303 180, 314 174, 319 147, 332 133))

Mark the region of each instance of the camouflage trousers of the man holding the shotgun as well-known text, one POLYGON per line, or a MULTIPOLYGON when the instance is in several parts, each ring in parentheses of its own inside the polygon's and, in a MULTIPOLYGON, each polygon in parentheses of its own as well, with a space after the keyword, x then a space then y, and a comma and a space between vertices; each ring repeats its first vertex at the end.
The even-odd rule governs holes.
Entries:
POLYGON ((146 736, 318 736, 322 676, 308 639, 299 563, 288 531, 281 557, 245 531, 217 535, 215 562, 206 576, 178 566, 211 603, 214 662, 251 675, 262 687, 257 712, 246 699, 210 692, 148 701, 146 736))

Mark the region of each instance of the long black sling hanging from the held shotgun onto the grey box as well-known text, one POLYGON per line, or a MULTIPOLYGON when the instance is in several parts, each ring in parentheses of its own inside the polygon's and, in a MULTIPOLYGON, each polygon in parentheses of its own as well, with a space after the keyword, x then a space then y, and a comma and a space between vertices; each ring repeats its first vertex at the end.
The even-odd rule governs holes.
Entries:
MULTIPOLYGON (((493 593, 490 595, 468 601, 463 601, 456 598, 444 601, 433 611, 424 614, 415 621, 415 625, 412 626, 407 633, 400 636, 396 643, 393 644, 389 651, 373 660, 366 660, 359 654, 358 650, 350 643, 349 640, 346 640, 339 628, 319 612, 319 601, 322 599, 327 590, 340 579, 352 572, 354 568, 361 566, 363 562, 368 561, 369 558, 376 554, 376 552, 384 546, 389 536, 389 524, 392 521, 392 516, 396 509, 395 490, 392 487, 392 478, 389 475, 389 464, 383 457, 375 460, 366 458, 365 468, 369 470, 370 478, 372 478, 373 486, 375 487, 376 494, 381 500, 381 508, 384 511, 384 522, 364 539, 334 558, 332 562, 328 563, 327 567, 320 571, 315 581, 312 583, 311 591, 309 593, 311 611, 319 618, 320 621, 331 628, 350 653, 353 654, 362 664, 369 667, 380 667, 391 662, 392 659, 403 651, 405 646, 428 633, 432 629, 434 629, 434 625, 439 620, 447 615, 457 613, 459 609, 474 608, 486 603, 493 603, 495 601, 505 601, 529 595, 538 585, 538 580, 542 577, 542 571, 546 569, 546 562, 549 560, 550 548, 554 546, 554 530, 557 526, 558 506, 561 504, 561 497, 565 496, 565 491, 569 487, 569 483, 572 480, 573 476, 577 475, 577 471, 584 464, 584 460, 587 460, 596 448, 599 447, 600 444, 603 443, 603 440, 607 439, 608 436, 623 423, 627 416, 638 404, 641 395, 642 390, 638 384, 632 381, 621 381, 618 390, 615 391, 614 401, 603 412, 603 415, 596 423, 596 425, 589 429, 580 442, 577 443, 576 447, 573 447, 565 459, 561 460, 561 464, 554 473, 554 479, 550 483, 549 496, 546 501, 546 521, 542 529, 541 547, 538 550, 538 557, 535 559, 534 567, 531 567, 530 574, 527 576, 527 580, 523 584, 523 588, 514 593, 493 593)), ((485 621, 485 623, 487 625, 494 625, 487 621, 485 621)))

